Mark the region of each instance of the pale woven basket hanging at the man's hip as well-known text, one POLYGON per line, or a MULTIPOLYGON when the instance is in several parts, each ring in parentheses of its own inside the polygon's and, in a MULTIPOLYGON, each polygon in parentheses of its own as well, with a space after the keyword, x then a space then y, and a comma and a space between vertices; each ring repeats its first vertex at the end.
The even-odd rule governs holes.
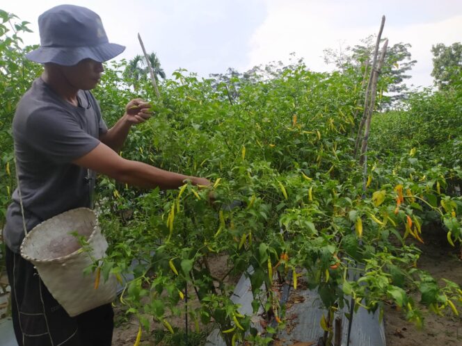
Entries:
POLYGON ((108 245, 102 236, 95 213, 77 208, 51 217, 35 226, 24 238, 21 255, 37 268, 49 292, 72 317, 107 304, 116 297, 116 278, 101 278, 95 288, 96 272, 84 274, 93 261, 104 257, 108 245), (90 245, 81 251, 77 231, 90 245), (90 258, 91 256, 91 258, 90 258))

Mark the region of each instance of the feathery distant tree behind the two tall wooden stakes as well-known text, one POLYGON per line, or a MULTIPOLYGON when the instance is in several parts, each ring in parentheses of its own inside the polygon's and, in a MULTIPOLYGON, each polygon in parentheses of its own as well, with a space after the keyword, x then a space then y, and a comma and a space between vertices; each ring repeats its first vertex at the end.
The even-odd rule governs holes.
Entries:
MULTIPOLYGON (((358 76, 363 76, 365 68, 367 68, 367 76, 369 76, 375 40, 375 36, 370 35, 361 40, 361 44, 356 44, 353 47, 337 50, 324 49, 324 61, 327 64, 334 64, 337 69, 344 73, 353 72, 358 76)), ((379 92, 381 94, 385 92, 388 96, 379 97, 381 106, 390 106, 406 98, 408 87, 404 81, 411 78, 408 72, 417 63, 417 60, 412 60, 409 48, 411 48, 411 44, 399 42, 387 49, 381 70, 379 92)))

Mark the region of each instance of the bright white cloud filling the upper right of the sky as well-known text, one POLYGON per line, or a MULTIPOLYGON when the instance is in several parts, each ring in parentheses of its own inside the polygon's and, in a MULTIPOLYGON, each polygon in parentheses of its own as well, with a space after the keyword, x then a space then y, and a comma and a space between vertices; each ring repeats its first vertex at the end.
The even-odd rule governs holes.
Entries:
MULTIPOLYGON (((397 4, 397 1, 392 2, 397 4)), ((432 44, 452 44, 461 40, 461 6, 456 6, 453 13, 449 13, 448 10, 437 10, 442 6, 438 3, 433 5, 435 13, 432 13, 432 7, 427 1, 423 1, 423 5, 424 8, 408 9, 398 5, 403 10, 398 12, 393 3, 387 3, 388 9, 395 9, 387 17, 383 31, 383 37, 390 39, 390 45, 411 43, 410 51, 413 59, 417 60, 417 65, 411 71, 412 78, 408 83, 414 85, 432 83, 432 44), (461 13, 459 15, 458 10, 461 13), (408 11, 413 11, 413 15, 408 11)), ((351 2, 337 1, 269 1, 268 15, 250 39, 251 49, 246 68, 275 60, 287 63, 289 54, 295 52, 297 57, 305 58, 310 69, 328 71, 330 68, 324 63, 323 50, 340 47, 344 49, 378 33, 381 13, 385 10, 387 8, 365 1, 356 1, 355 6, 351 2), (360 15, 367 20, 361 20, 360 15)), ((386 12, 383 13, 387 15, 386 12)))

